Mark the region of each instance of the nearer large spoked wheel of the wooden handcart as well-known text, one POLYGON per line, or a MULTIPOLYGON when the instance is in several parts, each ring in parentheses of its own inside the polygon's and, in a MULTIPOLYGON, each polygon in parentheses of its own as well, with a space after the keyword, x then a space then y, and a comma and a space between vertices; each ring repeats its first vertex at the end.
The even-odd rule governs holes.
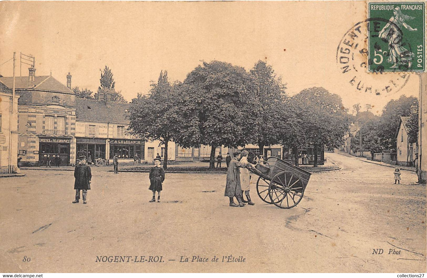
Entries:
POLYGON ((293 208, 301 201, 303 195, 302 181, 292 172, 280 172, 270 182, 270 200, 281 209, 293 208))

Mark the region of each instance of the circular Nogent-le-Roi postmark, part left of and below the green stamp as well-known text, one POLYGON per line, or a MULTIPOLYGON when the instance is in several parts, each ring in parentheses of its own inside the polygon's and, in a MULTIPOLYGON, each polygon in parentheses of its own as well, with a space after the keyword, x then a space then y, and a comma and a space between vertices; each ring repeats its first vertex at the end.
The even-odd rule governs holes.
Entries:
MULTIPOLYGON (((394 24, 382 18, 360 21, 348 29, 336 49, 336 63, 349 86, 357 93, 377 96, 398 92, 407 84, 410 76, 409 72, 399 72, 401 67, 396 68, 394 72, 384 72, 379 66, 374 72, 368 72, 369 65, 374 63, 375 59, 369 58, 369 24, 378 21, 394 24)), ((383 56, 387 56, 387 53, 384 53, 386 51, 377 49, 379 50, 383 56)))

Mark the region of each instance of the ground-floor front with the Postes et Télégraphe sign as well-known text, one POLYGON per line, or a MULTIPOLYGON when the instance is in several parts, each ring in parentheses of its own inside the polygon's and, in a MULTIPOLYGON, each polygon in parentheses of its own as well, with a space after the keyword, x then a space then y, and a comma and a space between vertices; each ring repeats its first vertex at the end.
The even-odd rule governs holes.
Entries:
POLYGON ((69 165, 71 138, 39 137, 38 159, 41 166, 69 165))

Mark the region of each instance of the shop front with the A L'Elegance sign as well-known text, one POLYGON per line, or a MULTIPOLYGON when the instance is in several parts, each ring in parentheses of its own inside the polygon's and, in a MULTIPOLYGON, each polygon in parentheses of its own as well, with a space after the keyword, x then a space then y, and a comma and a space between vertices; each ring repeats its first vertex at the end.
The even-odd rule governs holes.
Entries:
POLYGON ((136 139, 110 139, 110 159, 117 153, 119 159, 132 159, 135 153, 144 157, 144 141, 136 139))

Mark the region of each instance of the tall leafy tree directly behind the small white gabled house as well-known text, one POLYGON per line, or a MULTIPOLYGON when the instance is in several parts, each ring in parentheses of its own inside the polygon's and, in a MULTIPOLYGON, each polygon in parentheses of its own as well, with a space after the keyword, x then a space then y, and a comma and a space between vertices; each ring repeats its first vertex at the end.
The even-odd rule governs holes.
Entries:
POLYGON ((392 99, 383 108, 378 125, 381 145, 385 150, 396 149, 396 130, 398 128, 400 116, 411 115, 411 105, 417 101, 413 96, 401 96, 399 99, 392 99))

